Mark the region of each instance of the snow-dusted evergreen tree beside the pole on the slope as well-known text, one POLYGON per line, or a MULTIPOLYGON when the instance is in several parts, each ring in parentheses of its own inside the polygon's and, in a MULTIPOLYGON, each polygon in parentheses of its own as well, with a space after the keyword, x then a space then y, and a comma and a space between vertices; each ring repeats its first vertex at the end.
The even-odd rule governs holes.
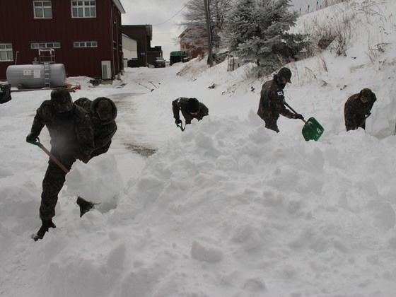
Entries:
POLYGON ((255 61, 265 72, 290 62, 306 45, 305 35, 287 31, 297 13, 291 0, 237 0, 228 18, 224 40, 228 50, 245 61, 255 61))

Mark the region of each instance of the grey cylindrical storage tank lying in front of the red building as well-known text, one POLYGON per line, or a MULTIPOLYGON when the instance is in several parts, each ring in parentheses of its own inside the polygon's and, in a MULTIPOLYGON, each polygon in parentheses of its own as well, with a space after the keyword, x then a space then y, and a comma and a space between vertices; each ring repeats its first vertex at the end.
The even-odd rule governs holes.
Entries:
MULTIPOLYGON (((64 86, 66 70, 64 64, 49 64, 50 84, 52 88, 64 86)), ((44 64, 10 65, 7 67, 7 81, 12 87, 45 87, 44 64)))

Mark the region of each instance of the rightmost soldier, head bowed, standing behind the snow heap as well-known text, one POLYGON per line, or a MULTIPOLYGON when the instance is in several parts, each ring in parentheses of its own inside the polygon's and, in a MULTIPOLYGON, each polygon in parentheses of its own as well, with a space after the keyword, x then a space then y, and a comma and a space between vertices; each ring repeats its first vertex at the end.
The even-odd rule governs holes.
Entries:
POLYGON ((344 106, 345 127, 347 131, 359 127, 366 128, 366 119, 371 115, 371 108, 377 98, 369 88, 363 88, 359 93, 351 95, 344 106))

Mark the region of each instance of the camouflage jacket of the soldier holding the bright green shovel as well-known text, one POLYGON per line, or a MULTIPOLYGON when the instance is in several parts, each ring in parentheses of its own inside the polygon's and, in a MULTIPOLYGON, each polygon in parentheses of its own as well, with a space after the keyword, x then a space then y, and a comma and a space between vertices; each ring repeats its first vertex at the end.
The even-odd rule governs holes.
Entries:
POLYGON ((272 81, 267 81, 262 86, 257 115, 259 115, 262 120, 271 118, 277 119, 279 115, 289 117, 290 119, 295 118, 294 113, 286 109, 284 105, 284 90, 278 83, 276 75, 274 75, 272 81))

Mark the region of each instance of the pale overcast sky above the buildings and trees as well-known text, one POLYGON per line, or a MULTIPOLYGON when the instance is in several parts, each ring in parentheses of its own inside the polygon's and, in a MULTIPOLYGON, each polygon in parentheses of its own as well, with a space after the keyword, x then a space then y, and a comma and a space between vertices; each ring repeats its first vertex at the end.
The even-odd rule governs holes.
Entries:
MULTIPOLYGON (((292 3, 305 12, 308 5, 312 9, 317 1, 321 4, 325 0, 293 0, 292 3)), ((126 11, 122 15, 122 25, 153 25, 151 47, 161 45, 163 57, 169 59, 170 52, 180 50, 175 39, 183 30, 178 24, 183 19, 182 13, 187 9, 183 7, 187 2, 188 0, 121 0, 126 11)))

